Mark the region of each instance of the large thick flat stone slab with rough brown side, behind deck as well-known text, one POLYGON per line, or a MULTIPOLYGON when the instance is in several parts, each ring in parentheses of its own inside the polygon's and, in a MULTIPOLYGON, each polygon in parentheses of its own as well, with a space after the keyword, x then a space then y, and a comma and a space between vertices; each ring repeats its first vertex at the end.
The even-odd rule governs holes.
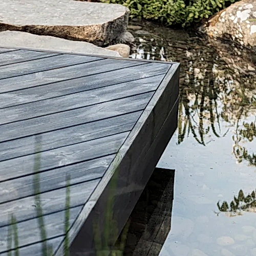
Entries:
POLYGON ((129 9, 70 0, 1 0, 1 30, 109 44, 126 31, 129 9))

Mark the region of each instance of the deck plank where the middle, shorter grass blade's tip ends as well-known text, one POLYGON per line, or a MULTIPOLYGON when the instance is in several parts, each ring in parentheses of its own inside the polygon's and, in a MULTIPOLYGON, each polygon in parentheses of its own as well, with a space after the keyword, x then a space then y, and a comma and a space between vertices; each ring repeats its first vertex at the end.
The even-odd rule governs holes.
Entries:
MULTIPOLYGON (((67 175, 70 176, 71 185, 101 178, 114 157, 115 155, 105 156, 42 172, 39 175, 40 191, 41 193, 44 193, 46 191, 64 187, 66 185, 67 175)), ((0 190, 0 204, 34 195, 33 186, 33 174, 2 182, 0 190)), ((15 204, 15 202, 13 204, 15 204)))

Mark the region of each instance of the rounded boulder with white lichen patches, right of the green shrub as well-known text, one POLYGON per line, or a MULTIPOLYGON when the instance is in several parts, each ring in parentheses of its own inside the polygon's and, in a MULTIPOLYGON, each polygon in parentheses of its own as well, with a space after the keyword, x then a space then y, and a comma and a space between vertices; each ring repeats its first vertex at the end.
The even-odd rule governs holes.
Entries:
POLYGON ((211 37, 224 37, 240 45, 256 46, 256 2, 242 0, 212 17, 200 28, 211 37))

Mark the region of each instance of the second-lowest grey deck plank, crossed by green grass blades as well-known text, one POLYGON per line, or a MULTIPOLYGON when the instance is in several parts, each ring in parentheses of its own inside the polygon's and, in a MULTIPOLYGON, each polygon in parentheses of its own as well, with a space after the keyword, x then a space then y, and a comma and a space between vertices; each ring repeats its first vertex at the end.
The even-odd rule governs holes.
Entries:
MULTIPOLYGON (((81 206, 70 209, 70 223, 72 223, 81 210, 81 206)), ((55 214, 44 216, 45 229, 47 238, 54 238, 64 234, 65 211, 56 212, 55 214)), ((41 241, 40 229, 38 228, 37 218, 17 223, 19 246, 41 241)), ((7 250, 7 230, 8 227, 0 228, 0 252, 7 250)))

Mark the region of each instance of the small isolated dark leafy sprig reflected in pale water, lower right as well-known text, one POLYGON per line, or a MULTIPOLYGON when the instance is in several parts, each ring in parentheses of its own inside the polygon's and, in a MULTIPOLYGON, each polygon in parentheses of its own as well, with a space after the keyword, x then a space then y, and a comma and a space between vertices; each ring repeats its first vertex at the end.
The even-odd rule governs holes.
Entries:
POLYGON ((234 196, 234 199, 227 203, 224 201, 220 206, 220 202, 217 203, 217 206, 220 211, 230 212, 233 215, 240 215, 241 211, 254 211, 256 210, 256 200, 255 200, 255 191, 253 190, 251 194, 248 194, 247 197, 244 196, 243 190, 239 191, 238 197, 234 196))

